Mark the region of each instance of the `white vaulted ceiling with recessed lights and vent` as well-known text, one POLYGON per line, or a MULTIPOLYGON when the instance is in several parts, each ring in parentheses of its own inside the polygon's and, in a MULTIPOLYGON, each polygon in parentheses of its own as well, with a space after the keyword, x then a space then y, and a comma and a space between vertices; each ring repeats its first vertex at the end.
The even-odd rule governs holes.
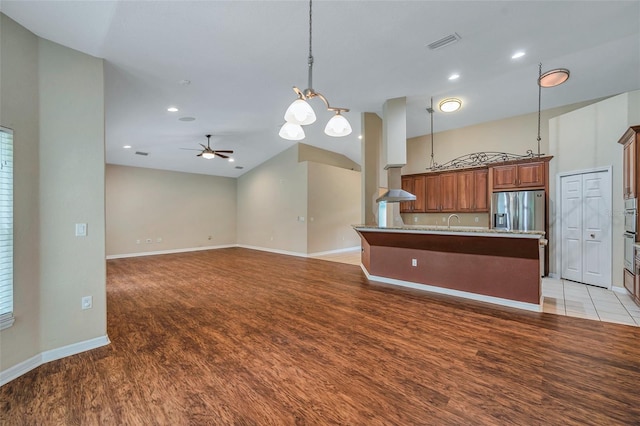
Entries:
MULTIPOLYGON (((105 59, 108 163, 237 177, 294 143, 278 130, 292 86, 307 87, 306 0, 0 7, 40 37, 105 59), (180 149, 206 144, 207 133, 214 149, 235 151, 235 163, 180 149)), ((571 70, 567 83, 543 90, 543 109, 640 89, 640 1, 316 0, 313 55, 314 89, 351 108, 354 132, 325 136, 330 113, 316 99, 318 122, 303 142, 360 162, 360 114, 380 114, 386 99, 407 97, 412 137, 429 133, 430 97, 464 103, 434 114, 436 132, 537 111, 540 62, 571 70), (459 42, 426 47, 454 32, 459 42), (526 55, 512 60, 517 50, 526 55), (454 72, 460 78, 449 81, 454 72)))

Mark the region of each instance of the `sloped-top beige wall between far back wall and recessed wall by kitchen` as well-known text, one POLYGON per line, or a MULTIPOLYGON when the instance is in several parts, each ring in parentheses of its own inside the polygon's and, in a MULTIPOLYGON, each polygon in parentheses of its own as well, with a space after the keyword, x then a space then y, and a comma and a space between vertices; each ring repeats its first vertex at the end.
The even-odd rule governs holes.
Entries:
POLYGON ((307 252, 307 163, 294 145, 238 178, 238 244, 307 252))

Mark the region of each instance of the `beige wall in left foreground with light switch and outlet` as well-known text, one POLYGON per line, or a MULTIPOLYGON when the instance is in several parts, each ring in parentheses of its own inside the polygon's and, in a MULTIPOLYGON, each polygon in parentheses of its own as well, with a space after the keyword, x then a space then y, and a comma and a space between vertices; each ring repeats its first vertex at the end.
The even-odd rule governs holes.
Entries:
POLYGON ((13 327, 0 369, 106 335, 102 60, 4 15, 1 120, 15 141, 13 327), (75 223, 88 236, 75 237, 75 223), (81 309, 82 296, 93 308, 81 309))

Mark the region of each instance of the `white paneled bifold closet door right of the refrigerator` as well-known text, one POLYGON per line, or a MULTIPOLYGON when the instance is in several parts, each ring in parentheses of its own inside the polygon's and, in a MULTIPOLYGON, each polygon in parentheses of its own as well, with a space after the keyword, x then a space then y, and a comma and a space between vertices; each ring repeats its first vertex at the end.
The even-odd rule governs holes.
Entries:
POLYGON ((608 171, 560 180, 562 278, 611 285, 611 177, 608 171))

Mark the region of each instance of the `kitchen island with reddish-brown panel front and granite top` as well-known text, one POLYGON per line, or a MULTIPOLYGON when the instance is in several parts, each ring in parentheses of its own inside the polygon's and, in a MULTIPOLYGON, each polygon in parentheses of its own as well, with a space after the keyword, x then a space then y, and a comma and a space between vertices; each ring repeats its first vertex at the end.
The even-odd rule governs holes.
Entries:
POLYGON ((356 225, 372 281, 541 311, 541 231, 356 225))

